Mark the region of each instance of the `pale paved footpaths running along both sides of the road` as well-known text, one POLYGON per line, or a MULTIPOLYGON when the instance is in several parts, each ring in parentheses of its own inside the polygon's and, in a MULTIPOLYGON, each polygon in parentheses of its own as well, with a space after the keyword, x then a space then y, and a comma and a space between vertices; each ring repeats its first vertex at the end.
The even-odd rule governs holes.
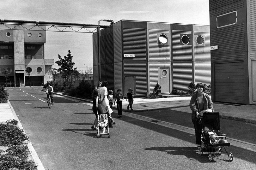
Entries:
MULTIPOLYGON (((42 90, 45 91, 45 90, 42 90)), ((60 95, 64 97, 69 97, 77 99, 80 101, 92 103, 92 100, 81 99, 76 97, 70 97, 63 95, 60 92, 54 92, 55 95, 60 95)), ((168 96, 166 98, 157 98, 157 99, 147 99, 147 98, 134 98, 134 103, 132 105, 133 110, 127 110, 128 102, 126 99, 122 102, 122 109, 125 112, 130 112, 133 114, 139 114, 139 112, 151 111, 151 110, 160 110, 160 109, 171 109, 171 108, 180 108, 180 111, 190 112, 189 102, 191 97, 177 97, 175 95, 168 96)), ((225 104, 225 103, 213 103, 214 111, 220 113, 220 117, 230 120, 244 121, 252 124, 256 124, 256 105, 238 105, 238 104, 225 104)), ((113 109, 117 109, 116 105, 113 105, 113 109)), ((10 119, 18 120, 17 115, 15 114, 14 109, 12 108, 10 102, 0 103, 0 123, 5 122, 10 119)), ((18 120, 19 121, 19 120, 18 120)), ((20 121, 18 126, 23 129, 20 121)), ((38 158, 33 146, 31 143, 28 143, 28 149, 38 166, 38 169, 44 169, 40 159, 38 158)))

